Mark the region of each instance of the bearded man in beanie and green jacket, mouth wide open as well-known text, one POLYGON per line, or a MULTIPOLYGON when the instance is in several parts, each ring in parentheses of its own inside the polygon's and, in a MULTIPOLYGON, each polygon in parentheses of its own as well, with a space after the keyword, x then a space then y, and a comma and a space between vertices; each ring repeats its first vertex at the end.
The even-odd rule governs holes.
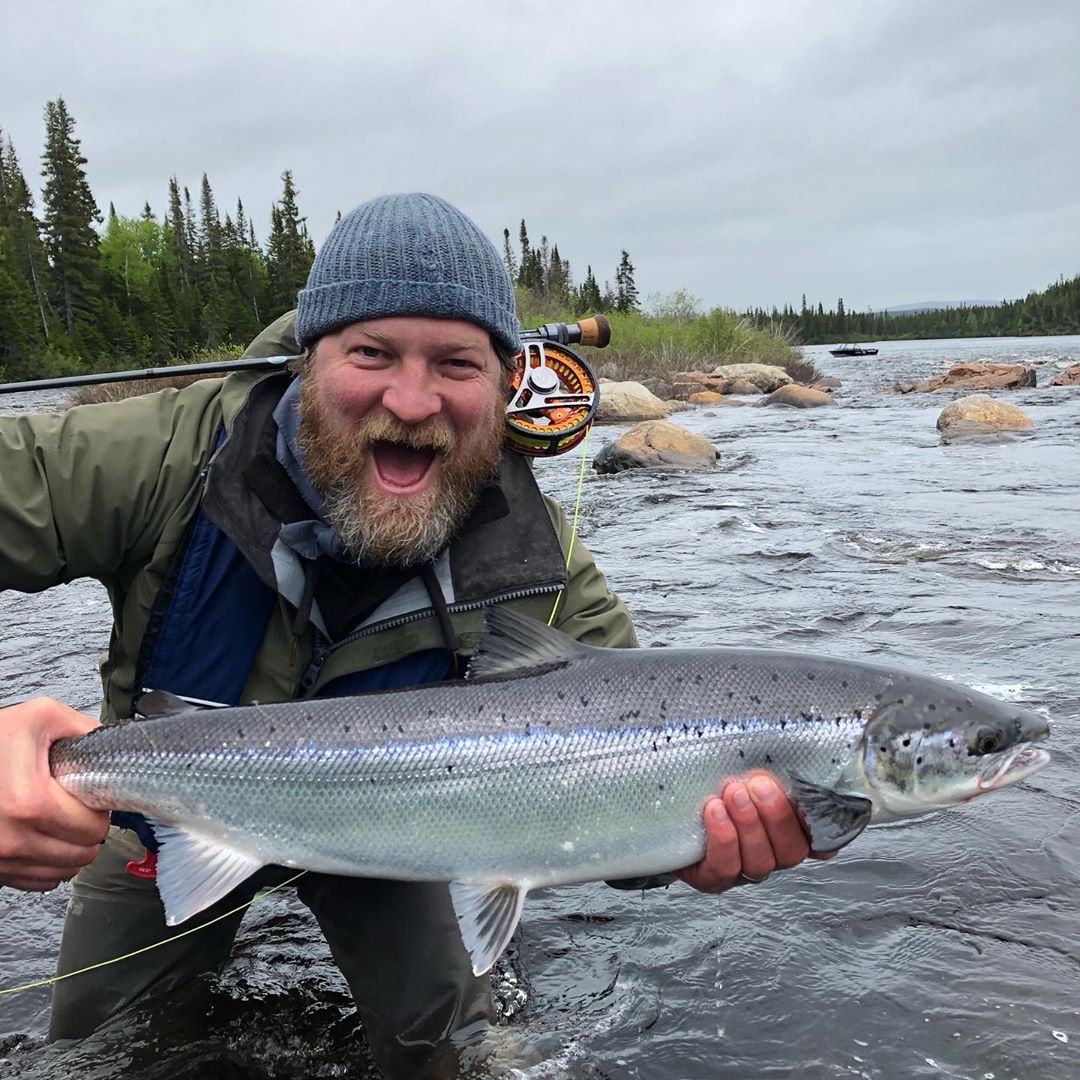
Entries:
MULTIPOLYGON (((235 704, 446 678, 492 604, 546 621, 557 603, 572 637, 634 646, 592 557, 580 542, 567 555, 562 511, 504 453, 518 335, 505 268, 469 218, 426 194, 365 203, 330 232, 297 312, 248 350, 302 349, 295 372, 0 420, 0 589, 105 583, 104 723, 147 689, 235 704)), ((50 777, 50 743, 95 723, 49 699, 0 711, 0 885, 43 891, 78 872, 62 973, 176 932, 135 835, 50 777)), ((705 891, 808 854, 764 774, 729 783, 705 824, 704 860, 680 872, 705 891)), ((260 870, 197 919, 284 877, 260 870)), ((380 1066, 451 1075, 450 1037, 491 1007, 446 886, 312 873, 296 889, 380 1066)), ((52 1037, 221 966, 241 918, 59 983, 52 1037)))

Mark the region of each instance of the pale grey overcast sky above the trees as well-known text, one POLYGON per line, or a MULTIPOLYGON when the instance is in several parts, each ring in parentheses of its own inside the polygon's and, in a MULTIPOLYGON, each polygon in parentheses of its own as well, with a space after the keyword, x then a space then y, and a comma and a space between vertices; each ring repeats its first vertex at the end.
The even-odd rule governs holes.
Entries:
POLYGON ((737 309, 1080 273, 1074 0, 0 0, 0 38, 30 183, 63 96, 120 214, 205 172, 261 239, 292 168, 316 244, 427 190, 737 309))

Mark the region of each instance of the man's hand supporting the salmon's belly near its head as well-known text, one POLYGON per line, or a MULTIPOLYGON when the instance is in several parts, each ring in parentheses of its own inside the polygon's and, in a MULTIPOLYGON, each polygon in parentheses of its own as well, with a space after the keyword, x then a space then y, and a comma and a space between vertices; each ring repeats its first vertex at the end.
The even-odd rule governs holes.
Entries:
POLYGON ((831 859, 835 851, 810 850, 795 807, 768 772, 730 780, 704 809, 705 856, 675 876, 701 892, 725 892, 746 881, 764 881, 773 870, 806 859, 831 859))

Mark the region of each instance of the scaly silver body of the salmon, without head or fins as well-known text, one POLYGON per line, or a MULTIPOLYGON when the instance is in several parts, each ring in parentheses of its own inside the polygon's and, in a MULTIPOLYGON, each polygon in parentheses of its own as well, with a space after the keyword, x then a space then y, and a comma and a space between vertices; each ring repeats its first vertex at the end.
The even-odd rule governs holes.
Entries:
POLYGON ((842 701, 841 678, 819 678, 819 707, 805 693, 800 715, 783 702, 807 680, 782 657, 718 651, 612 650, 531 677, 144 720, 103 741, 114 764, 98 800, 213 816, 271 862, 305 845, 326 870, 443 880, 467 864, 521 872, 544 852, 544 869, 585 880, 613 852, 638 866, 650 851, 665 869, 700 852, 700 809, 725 775, 835 782, 861 733, 853 712, 883 685, 842 701), (840 725, 820 718, 825 705, 840 725))

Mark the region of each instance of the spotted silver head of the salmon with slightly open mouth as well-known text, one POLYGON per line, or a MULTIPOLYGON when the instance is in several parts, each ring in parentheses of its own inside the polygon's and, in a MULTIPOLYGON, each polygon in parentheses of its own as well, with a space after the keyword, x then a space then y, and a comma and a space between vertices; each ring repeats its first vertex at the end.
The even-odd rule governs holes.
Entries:
POLYGON ((905 675, 878 694, 863 772, 882 816, 907 818, 1008 787, 1049 764, 1047 719, 944 679, 905 675))

